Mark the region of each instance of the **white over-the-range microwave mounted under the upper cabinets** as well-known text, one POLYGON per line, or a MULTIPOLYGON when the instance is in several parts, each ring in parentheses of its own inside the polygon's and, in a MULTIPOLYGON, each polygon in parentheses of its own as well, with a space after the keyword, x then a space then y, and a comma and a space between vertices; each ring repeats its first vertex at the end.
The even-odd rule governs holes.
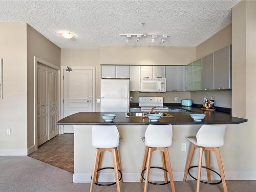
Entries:
POLYGON ((140 79, 140 92, 166 92, 165 78, 140 79))

